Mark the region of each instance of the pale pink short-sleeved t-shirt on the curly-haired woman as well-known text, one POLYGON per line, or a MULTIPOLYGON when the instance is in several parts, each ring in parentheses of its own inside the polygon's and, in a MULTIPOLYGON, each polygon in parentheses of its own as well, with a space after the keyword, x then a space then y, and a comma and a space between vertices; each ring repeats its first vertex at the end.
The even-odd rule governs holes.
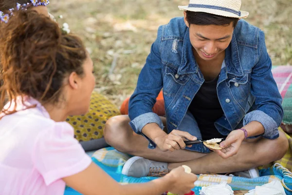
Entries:
POLYGON ((25 104, 37 107, 0 119, 0 195, 63 195, 62 178, 86 169, 91 158, 70 124, 52 120, 34 99, 25 104))

